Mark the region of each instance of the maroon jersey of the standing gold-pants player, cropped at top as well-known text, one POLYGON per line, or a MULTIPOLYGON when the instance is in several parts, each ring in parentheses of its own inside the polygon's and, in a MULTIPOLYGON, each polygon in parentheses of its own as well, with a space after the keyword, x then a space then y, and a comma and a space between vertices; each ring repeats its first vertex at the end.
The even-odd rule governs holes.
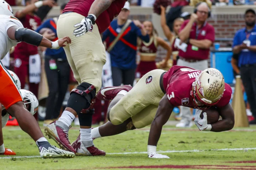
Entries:
MULTIPOLYGON (((110 26, 110 22, 121 12, 126 1, 127 0, 118 0, 112 2, 110 7, 98 16, 96 24, 100 33, 104 32, 108 26, 110 26)), ((92 2, 94 2, 94 0, 70 0, 63 12, 76 12, 86 17, 92 2)))

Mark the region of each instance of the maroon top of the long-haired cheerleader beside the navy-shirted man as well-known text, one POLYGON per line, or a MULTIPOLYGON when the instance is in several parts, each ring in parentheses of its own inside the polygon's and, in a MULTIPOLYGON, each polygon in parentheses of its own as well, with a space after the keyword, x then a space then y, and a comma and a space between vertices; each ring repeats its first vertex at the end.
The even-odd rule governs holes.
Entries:
POLYGON ((156 54, 157 46, 158 46, 157 40, 155 37, 152 36, 148 43, 141 41, 141 43, 139 44, 139 52, 142 55, 156 54))

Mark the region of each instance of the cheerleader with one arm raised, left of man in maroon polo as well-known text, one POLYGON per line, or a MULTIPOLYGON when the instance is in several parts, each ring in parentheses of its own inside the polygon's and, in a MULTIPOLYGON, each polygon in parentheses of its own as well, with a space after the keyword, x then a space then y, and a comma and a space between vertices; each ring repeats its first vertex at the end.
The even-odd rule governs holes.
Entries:
MULTIPOLYGON (((184 14, 183 16, 186 17, 187 15, 185 16, 184 14)), ((178 33, 180 32, 180 28, 183 22, 184 20, 182 18, 176 18, 174 20, 174 24, 173 24, 174 34, 173 34, 166 24, 165 7, 161 6, 161 27, 164 31, 165 37, 169 40, 171 44, 171 52, 172 52, 172 60, 173 60, 172 65, 177 64, 178 49, 177 49, 177 46, 174 44, 174 42, 175 42, 175 39, 178 37, 178 33)))

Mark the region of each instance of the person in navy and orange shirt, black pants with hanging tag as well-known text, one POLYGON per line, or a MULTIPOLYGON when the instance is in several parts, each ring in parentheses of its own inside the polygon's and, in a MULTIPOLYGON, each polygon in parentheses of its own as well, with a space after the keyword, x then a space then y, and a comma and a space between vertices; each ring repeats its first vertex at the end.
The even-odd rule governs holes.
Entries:
MULTIPOLYGON (((65 6, 66 4, 60 6, 60 13, 62 13, 65 6)), ((43 29, 46 31, 50 30, 53 33, 50 34, 52 37, 49 39, 52 41, 57 40, 57 20, 57 17, 46 20, 37 28, 36 32, 40 33, 43 29)), ((56 120, 60 114, 60 109, 68 89, 70 71, 63 48, 58 50, 48 48, 45 53, 44 64, 49 87, 49 94, 46 99, 46 117, 44 120, 44 126, 47 126, 56 120)))

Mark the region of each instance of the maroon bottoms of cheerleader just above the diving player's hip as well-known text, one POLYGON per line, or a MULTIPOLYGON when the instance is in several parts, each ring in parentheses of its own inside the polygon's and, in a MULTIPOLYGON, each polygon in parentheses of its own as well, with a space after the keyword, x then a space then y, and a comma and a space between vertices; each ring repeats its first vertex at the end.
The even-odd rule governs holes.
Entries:
POLYGON ((155 69, 157 69, 155 61, 140 61, 136 70, 136 78, 141 78, 149 71, 155 69))

